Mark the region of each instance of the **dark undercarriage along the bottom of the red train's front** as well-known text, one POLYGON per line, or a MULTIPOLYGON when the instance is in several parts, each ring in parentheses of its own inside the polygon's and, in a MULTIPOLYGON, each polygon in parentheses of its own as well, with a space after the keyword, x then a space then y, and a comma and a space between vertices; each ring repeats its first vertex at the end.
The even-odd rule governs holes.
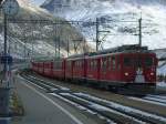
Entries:
POLYGON ((86 79, 69 79, 68 81, 82 85, 87 85, 91 87, 111 91, 123 95, 145 96, 146 94, 154 94, 156 91, 155 83, 106 82, 86 79))

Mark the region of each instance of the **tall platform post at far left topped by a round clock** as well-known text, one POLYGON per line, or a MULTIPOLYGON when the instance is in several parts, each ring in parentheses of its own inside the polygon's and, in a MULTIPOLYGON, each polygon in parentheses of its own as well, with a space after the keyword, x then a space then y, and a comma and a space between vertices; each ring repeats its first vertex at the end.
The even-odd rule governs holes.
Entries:
MULTIPOLYGON (((0 3, 2 0, 0 1, 0 3)), ((19 3, 13 0, 4 0, 2 3, 2 10, 4 16, 4 45, 3 45, 3 55, 1 56, 1 64, 3 64, 3 78, 1 79, 0 85, 0 115, 9 116, 9 97, 10 97, 10 83, 11 83, 11 63, 12 56, 8 54, 8 18, 12 18, 19 11, 19 3)))

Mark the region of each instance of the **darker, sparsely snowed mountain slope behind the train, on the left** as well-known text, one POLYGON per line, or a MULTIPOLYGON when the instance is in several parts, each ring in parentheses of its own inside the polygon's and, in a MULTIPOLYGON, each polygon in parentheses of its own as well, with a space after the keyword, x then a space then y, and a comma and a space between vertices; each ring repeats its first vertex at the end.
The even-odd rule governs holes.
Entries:
MULTIPOLYGON (((29 0, 18 0, 20 4, 19 13, 13 18, 14 20, 51 20, 65 21, 62 18, 55 18, 48 11, 31 6, 29 0)), ((2 16, 0 16, 2 19, 2 16)), ((3 22, 0 21, 0 53, 3 52, 3 22)), ((8 27, 8 48, 10 53, 15 58, 28 55, 54 56, 55 55, 55 37, 60 37, 61 54, 66 55, 68 41, 71 41, 69 49, 73 52, 74 42, 72 39, 81 39, 79 33, 71 24, 66 27, 55 27, 46 23, 20 22, 9 23, 8 27), (63 34, 59 31, 62 31, 63 34), (56 32, 56 34, 55 34, 56 32), (20 38, 18 38, 20 37, 20 38), (35 39, 37 38, 37 39, 35 39)), ((58 44, 58 43, 56 43, 58 44)), ((81 50, 81 49, 80 49, 81 50)), ((58 51, 58 48, 56 48, 58 51)), ((56 52, 58 53, 58 52, 56 52)))

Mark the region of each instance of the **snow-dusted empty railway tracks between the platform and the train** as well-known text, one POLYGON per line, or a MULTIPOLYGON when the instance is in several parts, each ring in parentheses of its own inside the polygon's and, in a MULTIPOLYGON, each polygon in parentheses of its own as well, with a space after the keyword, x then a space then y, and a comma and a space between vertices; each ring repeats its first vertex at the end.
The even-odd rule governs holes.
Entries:
POLYGON ((66 87, 45 82, 32 75, 21 74, 21 76, 55 97, 104 117, 107 123, 166 124, 166 118, 159 115, 105 101, 89 94, 75 93, 66 87))

